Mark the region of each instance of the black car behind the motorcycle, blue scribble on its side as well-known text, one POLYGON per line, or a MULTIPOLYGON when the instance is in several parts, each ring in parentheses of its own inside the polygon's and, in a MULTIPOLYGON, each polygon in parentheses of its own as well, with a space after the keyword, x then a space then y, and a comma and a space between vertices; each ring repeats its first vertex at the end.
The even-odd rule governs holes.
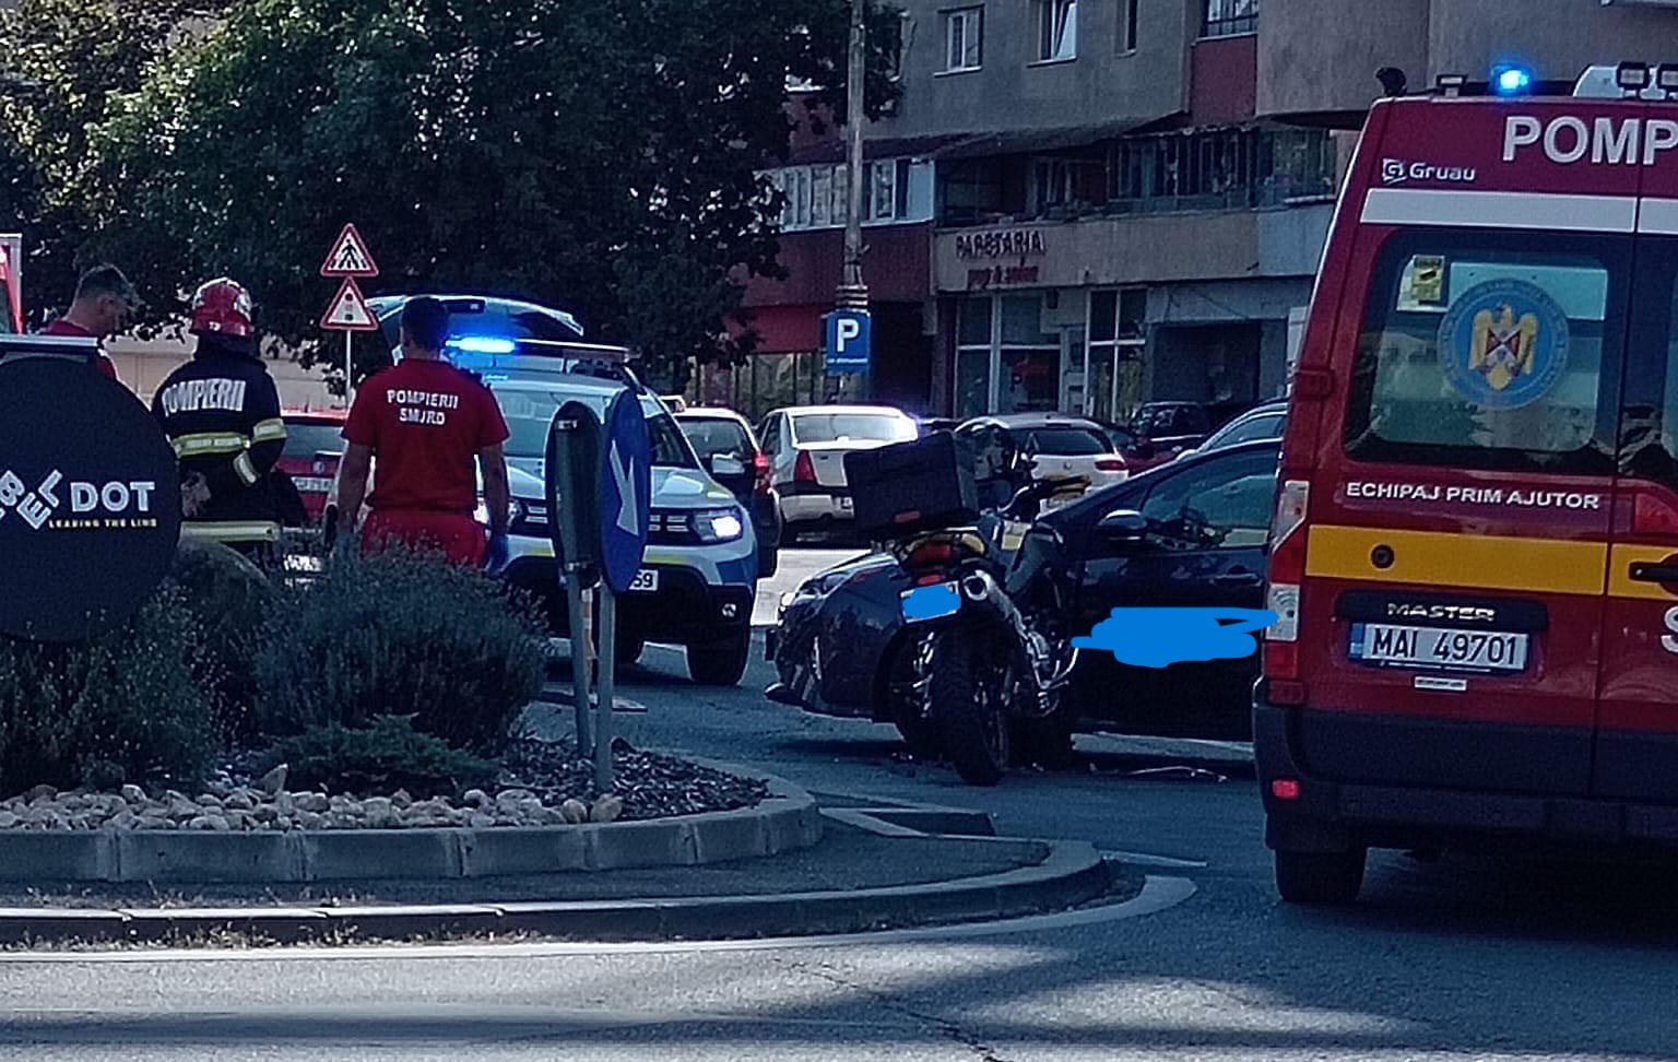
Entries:
MULTIPOLYGON (((1173 461, 1059 508, 1042 523, 1079 562, 1076 622, 1091 631, 1121 606, 1264 607, 1265 542, 1279 445, 1228 446, 1173 461), (1134 510, 1141 540, 1097 532, 1134 510)), ((780 681, 770 696, 819 715, 898 721, 909 681, 899 596, 909 580, 884 554, 829 569, 789 594, 770 633, 780 681)), ((1258 658, 1134 668, 1084 651, 1074 679, 1079 730, 1242 740, 1250 737, 1258 658)))

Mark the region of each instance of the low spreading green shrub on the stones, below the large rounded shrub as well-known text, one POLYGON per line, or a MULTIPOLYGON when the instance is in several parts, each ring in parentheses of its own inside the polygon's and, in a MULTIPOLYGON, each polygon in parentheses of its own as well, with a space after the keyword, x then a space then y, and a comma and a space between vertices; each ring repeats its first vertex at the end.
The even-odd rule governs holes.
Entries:
POLYGON ((329 794, 393 794, 451 797, 468 789, 495 785, 497 765, 461 752, 441 738, 418 733, 408 716, 386 715, 366 730, 336 723, 310 726, 285 738, 260 757, 257 770, 287 763, 289 789, 324 789, 329 794))

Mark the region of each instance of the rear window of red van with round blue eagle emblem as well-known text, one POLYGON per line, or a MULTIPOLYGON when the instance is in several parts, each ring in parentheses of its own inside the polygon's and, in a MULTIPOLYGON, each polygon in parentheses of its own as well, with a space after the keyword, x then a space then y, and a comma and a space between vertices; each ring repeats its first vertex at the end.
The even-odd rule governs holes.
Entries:
POLYGON ((1371 461, 1613 473, 1619 248, 1404 233, 1374 275, 1346 450, 1371 461))

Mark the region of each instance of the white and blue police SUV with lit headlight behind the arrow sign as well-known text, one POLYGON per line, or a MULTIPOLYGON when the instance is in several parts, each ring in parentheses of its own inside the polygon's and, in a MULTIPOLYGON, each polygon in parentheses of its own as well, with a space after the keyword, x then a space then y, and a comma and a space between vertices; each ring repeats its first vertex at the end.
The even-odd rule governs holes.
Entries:
MULTIPOLYGON (((507 418, 507 466, 513 513, 507 567, 498 574, 549 606, 555 634, 569 614, 544 500, 547 431, 569 401, 604 416, 626 386, 571 372, 482 372, 507 418)), ((648 641, 686 649, 696 683, 732 686, 745 674, 757 601, 757 537, 735 495, 706 471, 658 396, 629 384, 641 399, 653 443, 653 517, 634 584, 618 601, 618 658, 631 663, 648 641)))

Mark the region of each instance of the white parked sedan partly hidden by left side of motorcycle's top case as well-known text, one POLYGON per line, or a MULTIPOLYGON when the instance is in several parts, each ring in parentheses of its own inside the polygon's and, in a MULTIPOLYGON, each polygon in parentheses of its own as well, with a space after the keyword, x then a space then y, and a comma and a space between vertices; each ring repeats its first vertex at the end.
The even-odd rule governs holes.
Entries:
POLYGON ((785 534, 837 530, 852 517, 844 455, 920 436, 915 418, 891 406, 789 406, 758 429, 785 534))

